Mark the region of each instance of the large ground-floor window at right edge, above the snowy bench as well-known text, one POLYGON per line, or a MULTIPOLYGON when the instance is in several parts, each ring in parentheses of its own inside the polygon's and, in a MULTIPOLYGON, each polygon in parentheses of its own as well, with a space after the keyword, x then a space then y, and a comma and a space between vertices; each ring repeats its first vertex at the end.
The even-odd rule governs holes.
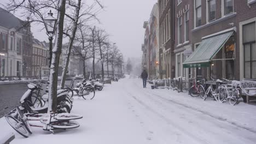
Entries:
POLYGON ((255 22, 243 26, 244 76, 256 79, 255 22))

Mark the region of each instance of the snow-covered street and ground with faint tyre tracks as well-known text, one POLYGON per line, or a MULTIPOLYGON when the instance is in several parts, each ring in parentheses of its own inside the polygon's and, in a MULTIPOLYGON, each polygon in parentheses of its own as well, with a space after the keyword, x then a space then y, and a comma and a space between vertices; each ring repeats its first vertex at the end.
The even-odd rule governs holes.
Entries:
MULTIPOLYGON (((96 92, 94 100, 75 98, 80 127, 50 134, 33 128, 12 143, 255 143, 256 107, 203 101, 187 93, 142 88, 140 79, 122 79, 96 92)), ((13 131, 0 119, 0 134, 13 131)))

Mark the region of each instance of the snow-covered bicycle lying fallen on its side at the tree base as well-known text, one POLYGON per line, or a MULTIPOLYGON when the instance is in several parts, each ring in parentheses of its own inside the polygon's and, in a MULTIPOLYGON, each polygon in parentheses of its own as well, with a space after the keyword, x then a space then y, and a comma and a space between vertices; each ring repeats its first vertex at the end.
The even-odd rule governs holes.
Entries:
POLYGON ((20 107, 5 115, 5 119, 10 126, 20 135, 28 137, 32 134, 31 127, 40 127, 43 130, 51 131, 54 134, 56 129, 78 128, 80 125, 74 119, 83 118, 81 115, 71 113, 22 113, 20 107), (33 121, 34 123, 32 123, 33 121))

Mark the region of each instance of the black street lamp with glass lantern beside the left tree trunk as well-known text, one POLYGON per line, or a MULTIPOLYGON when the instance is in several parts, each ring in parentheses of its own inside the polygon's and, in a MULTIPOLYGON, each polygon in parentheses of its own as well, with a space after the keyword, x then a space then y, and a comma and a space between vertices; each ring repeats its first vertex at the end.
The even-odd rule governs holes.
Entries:
POLYGON ((57 20, 53 17, 53 13, 48 13, 48 16, 44 19, 44 26, 46 29, 46 34, 49 37, 49 73, 51 67, 51 58, 53 57, 53 36, 55 34, 57 20))

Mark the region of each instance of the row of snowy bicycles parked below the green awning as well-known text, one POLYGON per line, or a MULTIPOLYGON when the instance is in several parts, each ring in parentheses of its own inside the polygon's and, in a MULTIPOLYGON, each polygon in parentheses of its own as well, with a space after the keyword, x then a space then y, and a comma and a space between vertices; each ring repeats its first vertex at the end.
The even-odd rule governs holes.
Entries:
POLYGON ((193 86, 189 89, 191 97, 201 97, 203 100, 213 98, 220 103, 229 101, 230 105, 236 105, 241 98, 242 87, 240 81, 214 80, 202 85, 201 81, 194 79, 193 86), (218 83, 218 85, 217 85, 218 83))

